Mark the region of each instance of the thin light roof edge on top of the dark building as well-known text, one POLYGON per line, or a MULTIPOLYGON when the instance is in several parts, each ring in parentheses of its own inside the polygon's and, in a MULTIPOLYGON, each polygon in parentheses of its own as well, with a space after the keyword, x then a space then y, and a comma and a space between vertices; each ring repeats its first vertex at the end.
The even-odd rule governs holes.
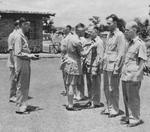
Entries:
POLYGON ((37 11, 16 11, 16 10, 0 10, 0 13, 9 13, 9 14, 35 14, 35 15, 50 15, 50 16, 55 16, 55 13, 50 13, 50 12, 37 12, 37 11))

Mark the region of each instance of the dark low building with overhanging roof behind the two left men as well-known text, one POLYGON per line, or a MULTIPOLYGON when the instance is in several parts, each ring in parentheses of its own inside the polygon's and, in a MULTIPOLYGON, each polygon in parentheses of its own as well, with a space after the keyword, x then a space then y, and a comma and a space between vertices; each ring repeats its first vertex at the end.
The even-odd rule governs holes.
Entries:
POLYGON ((28 34, 29 47, 32 52, 42 51, 43 41, 43 20, 50 19, 55 14, 49 12, 29 12, 0 10, 0 53, 7 52, 7 39, 14 28, 14 21, 20 17, 25 17, 31 22, 31 31, 28 34))

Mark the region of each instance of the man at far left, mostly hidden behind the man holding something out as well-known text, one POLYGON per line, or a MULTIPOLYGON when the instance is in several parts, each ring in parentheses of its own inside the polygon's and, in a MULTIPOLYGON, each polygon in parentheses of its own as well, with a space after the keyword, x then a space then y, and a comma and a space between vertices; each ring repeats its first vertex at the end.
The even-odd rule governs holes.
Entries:
POLYGON ((8 51, 9 51, 9 56, 8 56, 8 67, 10 69, 10 96, 9 96, 9 102, 16 102, 16 82, 14 80, 15 76, 15 66, 14 66, 14 39, 15 35, 19 29, 19 20, 15 21, 14 23, 14 30, 13 32, 10 33, 8 37, 8 51))

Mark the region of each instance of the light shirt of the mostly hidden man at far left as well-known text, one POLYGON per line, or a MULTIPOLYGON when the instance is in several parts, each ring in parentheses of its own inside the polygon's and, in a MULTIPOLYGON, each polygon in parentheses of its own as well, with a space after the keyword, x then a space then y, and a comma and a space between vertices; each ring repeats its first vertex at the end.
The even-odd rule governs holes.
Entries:
MULTIPOLYGON (((15 35, 17 33, 17 30, 13 30, 12 33, 10 33, 9 37, 8 37, 8 51, 10 50, 14 50, 14 39, 15 39, 15 35)), ((8 55, 8 61, 7 61, 7 66, 14 68, 14 55, 13 52, 12 54, 8 55)))

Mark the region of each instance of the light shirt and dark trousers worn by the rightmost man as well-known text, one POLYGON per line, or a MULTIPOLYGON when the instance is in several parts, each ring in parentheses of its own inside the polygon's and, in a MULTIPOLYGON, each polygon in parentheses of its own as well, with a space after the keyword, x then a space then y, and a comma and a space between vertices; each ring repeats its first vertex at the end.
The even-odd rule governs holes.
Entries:
POLYGON ((147 60, 146 46, 139 37, 136 37, 128 46, 121 76, 126 117, 130 123, 136 123, 140 120, 139 90, 143 79, 143 71, 139 76, 136 76, 140 59, 147 60))

